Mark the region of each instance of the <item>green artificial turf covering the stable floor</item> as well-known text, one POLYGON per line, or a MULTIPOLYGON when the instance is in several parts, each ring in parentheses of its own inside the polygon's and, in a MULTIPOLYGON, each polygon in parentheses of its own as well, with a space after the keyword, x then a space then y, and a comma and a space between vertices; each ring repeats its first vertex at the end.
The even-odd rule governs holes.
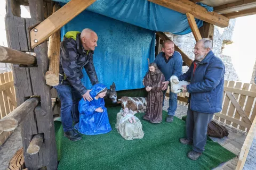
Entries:
POLYGON ((58 169, 212 169, 236 155, 217 142, 207 141, 205 151, 198 160, 190 160, 187 153, 191 145, 182 145, 179 138, 185 137, 185 121, 174 117, 173 123, 164 120, 152 124, 142 120, 143 139, 125 140, 115 129, 116 114, 120 107, 107 108, 112 131, 100 135, 82 135, 82 140, 73 142, 63 137, 61 122, 55 121, 58 169))

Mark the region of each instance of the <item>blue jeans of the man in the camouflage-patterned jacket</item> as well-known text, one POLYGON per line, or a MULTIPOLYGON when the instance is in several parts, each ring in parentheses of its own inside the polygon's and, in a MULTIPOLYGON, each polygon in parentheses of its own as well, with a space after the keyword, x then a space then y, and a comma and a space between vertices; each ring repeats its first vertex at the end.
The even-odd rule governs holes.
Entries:
POLYGON ((61 101, 60 116, 64 132, 73 130, 73 121, 79 122, 78 103, 82 95, 69 85, 54 86, 61 101))

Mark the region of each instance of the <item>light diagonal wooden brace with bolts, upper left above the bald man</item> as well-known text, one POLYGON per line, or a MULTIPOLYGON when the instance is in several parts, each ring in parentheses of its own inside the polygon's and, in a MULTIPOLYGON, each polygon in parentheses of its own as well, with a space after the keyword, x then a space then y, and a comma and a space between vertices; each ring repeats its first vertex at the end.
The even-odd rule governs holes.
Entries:
POLYGON ((96 0, 71 0, 66 5, 62 6, 60 10, 53 13, 49 18, 30 30, 31 48, 35 48, 43 43, 44 40, 50 37, 71 19, 75 18, 75 16, 84 11, 95 1, 96 0))

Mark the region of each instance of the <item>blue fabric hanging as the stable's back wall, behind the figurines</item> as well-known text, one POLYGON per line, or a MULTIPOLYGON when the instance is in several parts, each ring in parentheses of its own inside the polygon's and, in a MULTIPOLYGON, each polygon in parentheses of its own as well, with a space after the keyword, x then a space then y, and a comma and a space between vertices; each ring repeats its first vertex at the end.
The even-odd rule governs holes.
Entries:
MULTIPOLYGON (((93 62, 99 81, 116 90, 143 88, 142 79, 148 71, 148 61, 154 61, 155 32, 114 20, 90 11, 83 11, 61 28, 61 37, 67 31, 90 28, 97 32, 98 47, 93 62)), ((91 88, 91 82, 83 70, 82 82, 91 88)))

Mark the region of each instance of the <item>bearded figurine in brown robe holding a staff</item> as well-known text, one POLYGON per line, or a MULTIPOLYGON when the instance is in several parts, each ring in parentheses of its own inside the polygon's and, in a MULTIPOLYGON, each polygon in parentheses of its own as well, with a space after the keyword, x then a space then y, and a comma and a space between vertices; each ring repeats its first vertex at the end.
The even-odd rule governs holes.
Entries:
POLYGON ((158 69, 156 63, 149 64, 149 72, 143 79, 143 84, 148 91, 147 109, 143 119, 151 123, 162 122, 163 92, 165 81, 164 74, 158 69))

